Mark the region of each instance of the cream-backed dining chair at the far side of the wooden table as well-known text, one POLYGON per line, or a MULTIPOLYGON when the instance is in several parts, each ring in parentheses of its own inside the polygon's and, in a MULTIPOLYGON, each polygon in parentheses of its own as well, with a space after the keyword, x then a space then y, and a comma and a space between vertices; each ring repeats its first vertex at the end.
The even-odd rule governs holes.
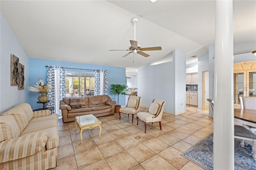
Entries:
MULTIPOLYGON (((241 109, 252 109, 256 110, 256 97, 239 97, 241 109)), ((255 112, 256 117, 256 112, 255 112)), ((249 130, 256 132, 256 127, 249 125, 243 125, 244 127, 249 128, 249 130)))

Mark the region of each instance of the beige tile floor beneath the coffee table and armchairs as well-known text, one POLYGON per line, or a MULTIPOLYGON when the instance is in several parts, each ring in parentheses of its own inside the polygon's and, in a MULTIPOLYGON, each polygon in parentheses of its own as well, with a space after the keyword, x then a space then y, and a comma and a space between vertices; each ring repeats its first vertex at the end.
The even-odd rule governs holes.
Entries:
MULTIPOLYGON (((148 111, 141 107, 140 111, 148 111)), ((208 110, 187 106, 186 113, 164 113, 162 130, 159 123, 137 124, 136 115, 119 114, 98 117, 99 128, 83 130, 80 146, 80 129, 75 132, 75 123, 58 122, 60 144, 56 170, 200 170, 199 166, 180 154, 213 132, 212 118, 208 110), (140 136, 139 139, 135 139, 140 136)))

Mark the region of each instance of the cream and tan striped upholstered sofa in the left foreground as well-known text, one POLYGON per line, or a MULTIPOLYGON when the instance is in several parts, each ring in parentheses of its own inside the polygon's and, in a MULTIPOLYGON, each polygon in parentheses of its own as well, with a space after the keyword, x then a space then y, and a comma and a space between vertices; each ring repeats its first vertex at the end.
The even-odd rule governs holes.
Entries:
POLYGON ((57 166, 58 117, 22 103, 0 116, 0 170, 46 170, 57 166))

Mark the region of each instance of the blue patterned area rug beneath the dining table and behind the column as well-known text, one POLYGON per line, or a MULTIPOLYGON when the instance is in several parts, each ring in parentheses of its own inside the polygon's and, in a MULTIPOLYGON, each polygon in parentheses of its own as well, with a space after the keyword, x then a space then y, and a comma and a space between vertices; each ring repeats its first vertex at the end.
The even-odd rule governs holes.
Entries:
MULTIPOLYGON (((182 156, 206 170, 213 170, 212 139, 213 133, 189 148, 182 156)), ((248 144, 242 148, 238 139, 235 139, 234 146, 234 169, 256 170, 256 160, 252 159, 252 146, 248 144)))

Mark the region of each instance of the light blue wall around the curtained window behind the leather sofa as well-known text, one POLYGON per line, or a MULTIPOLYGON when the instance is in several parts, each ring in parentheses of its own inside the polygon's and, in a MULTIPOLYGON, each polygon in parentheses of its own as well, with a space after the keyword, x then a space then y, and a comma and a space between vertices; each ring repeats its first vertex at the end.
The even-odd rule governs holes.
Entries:
MULTIPOLYGON (((124 84, 126 85, 125 79, 125 68, 123 67, 110 67, 104 65, 94 65, 86 63, 73 63, 66 61, 55 61, 47 59, 36 59, 28 58, 28 86, 34 86, 38 79, 44 79, 44 83, 47 83, 47 68, 46 65, 55 65, 62 67, 70 67, 77 69, 104 69, 108 71, 108 95, 112 100, 117 102, 117 96, 110 93, 112 84, 124 84)), ((67 69, 68 70, 68 69, 67 69)), ((79 70, 77 70, 79 71, 79 70)), ((42 104, 36 103, 38 101, 38 93, 28 91, 28 103, 32 109, 42 108, 42 104)), ((119 95, 119 105, 125 105, 125 96, 119 95)))

